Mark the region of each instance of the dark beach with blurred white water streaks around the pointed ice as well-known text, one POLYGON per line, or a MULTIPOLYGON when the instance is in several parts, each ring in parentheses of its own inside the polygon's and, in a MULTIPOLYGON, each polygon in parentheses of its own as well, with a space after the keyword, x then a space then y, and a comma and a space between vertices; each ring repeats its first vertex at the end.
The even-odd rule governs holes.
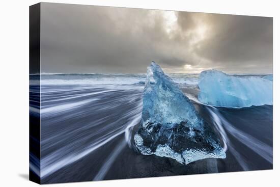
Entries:
MULTIPOLYGON (((192 101, 217 131, 214 115, 225 120, 226 159, 182 165, 142 155, 133 145, 142 90, 143 85, 41 86, 42 183, 272 169, 272 105, 213 109, 192 101)), ((182 90, 194 97, 197 92, 182 90)))

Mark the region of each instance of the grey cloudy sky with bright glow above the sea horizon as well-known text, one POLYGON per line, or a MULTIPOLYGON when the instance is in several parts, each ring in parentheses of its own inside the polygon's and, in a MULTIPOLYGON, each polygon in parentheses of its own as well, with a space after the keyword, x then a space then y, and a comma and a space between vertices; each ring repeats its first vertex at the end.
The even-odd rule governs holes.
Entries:
POLYGON ((41 72, 272 73, 272 18, 41 5, 41 72))

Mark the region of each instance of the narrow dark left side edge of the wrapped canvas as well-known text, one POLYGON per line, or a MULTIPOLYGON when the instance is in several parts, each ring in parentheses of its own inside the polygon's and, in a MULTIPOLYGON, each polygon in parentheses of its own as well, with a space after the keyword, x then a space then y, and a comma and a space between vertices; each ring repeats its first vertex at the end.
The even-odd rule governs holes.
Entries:
POLYGON ((29 10, 29 179, 40 183, 40 3, 29 10))

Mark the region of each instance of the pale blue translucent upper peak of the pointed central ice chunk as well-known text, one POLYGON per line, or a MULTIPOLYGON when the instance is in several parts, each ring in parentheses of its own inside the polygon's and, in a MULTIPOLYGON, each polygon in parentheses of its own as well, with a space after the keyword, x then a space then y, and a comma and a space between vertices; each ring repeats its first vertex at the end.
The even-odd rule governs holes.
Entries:
POLYGON ((142 116, 145 123, 148 120, 176 124, 189 121, 187 119, 192 119, 188 122, 189 125, 200 123, 197 112, 188 97, 155 62, 152 62, 147 70, 143 99, 142 116))

